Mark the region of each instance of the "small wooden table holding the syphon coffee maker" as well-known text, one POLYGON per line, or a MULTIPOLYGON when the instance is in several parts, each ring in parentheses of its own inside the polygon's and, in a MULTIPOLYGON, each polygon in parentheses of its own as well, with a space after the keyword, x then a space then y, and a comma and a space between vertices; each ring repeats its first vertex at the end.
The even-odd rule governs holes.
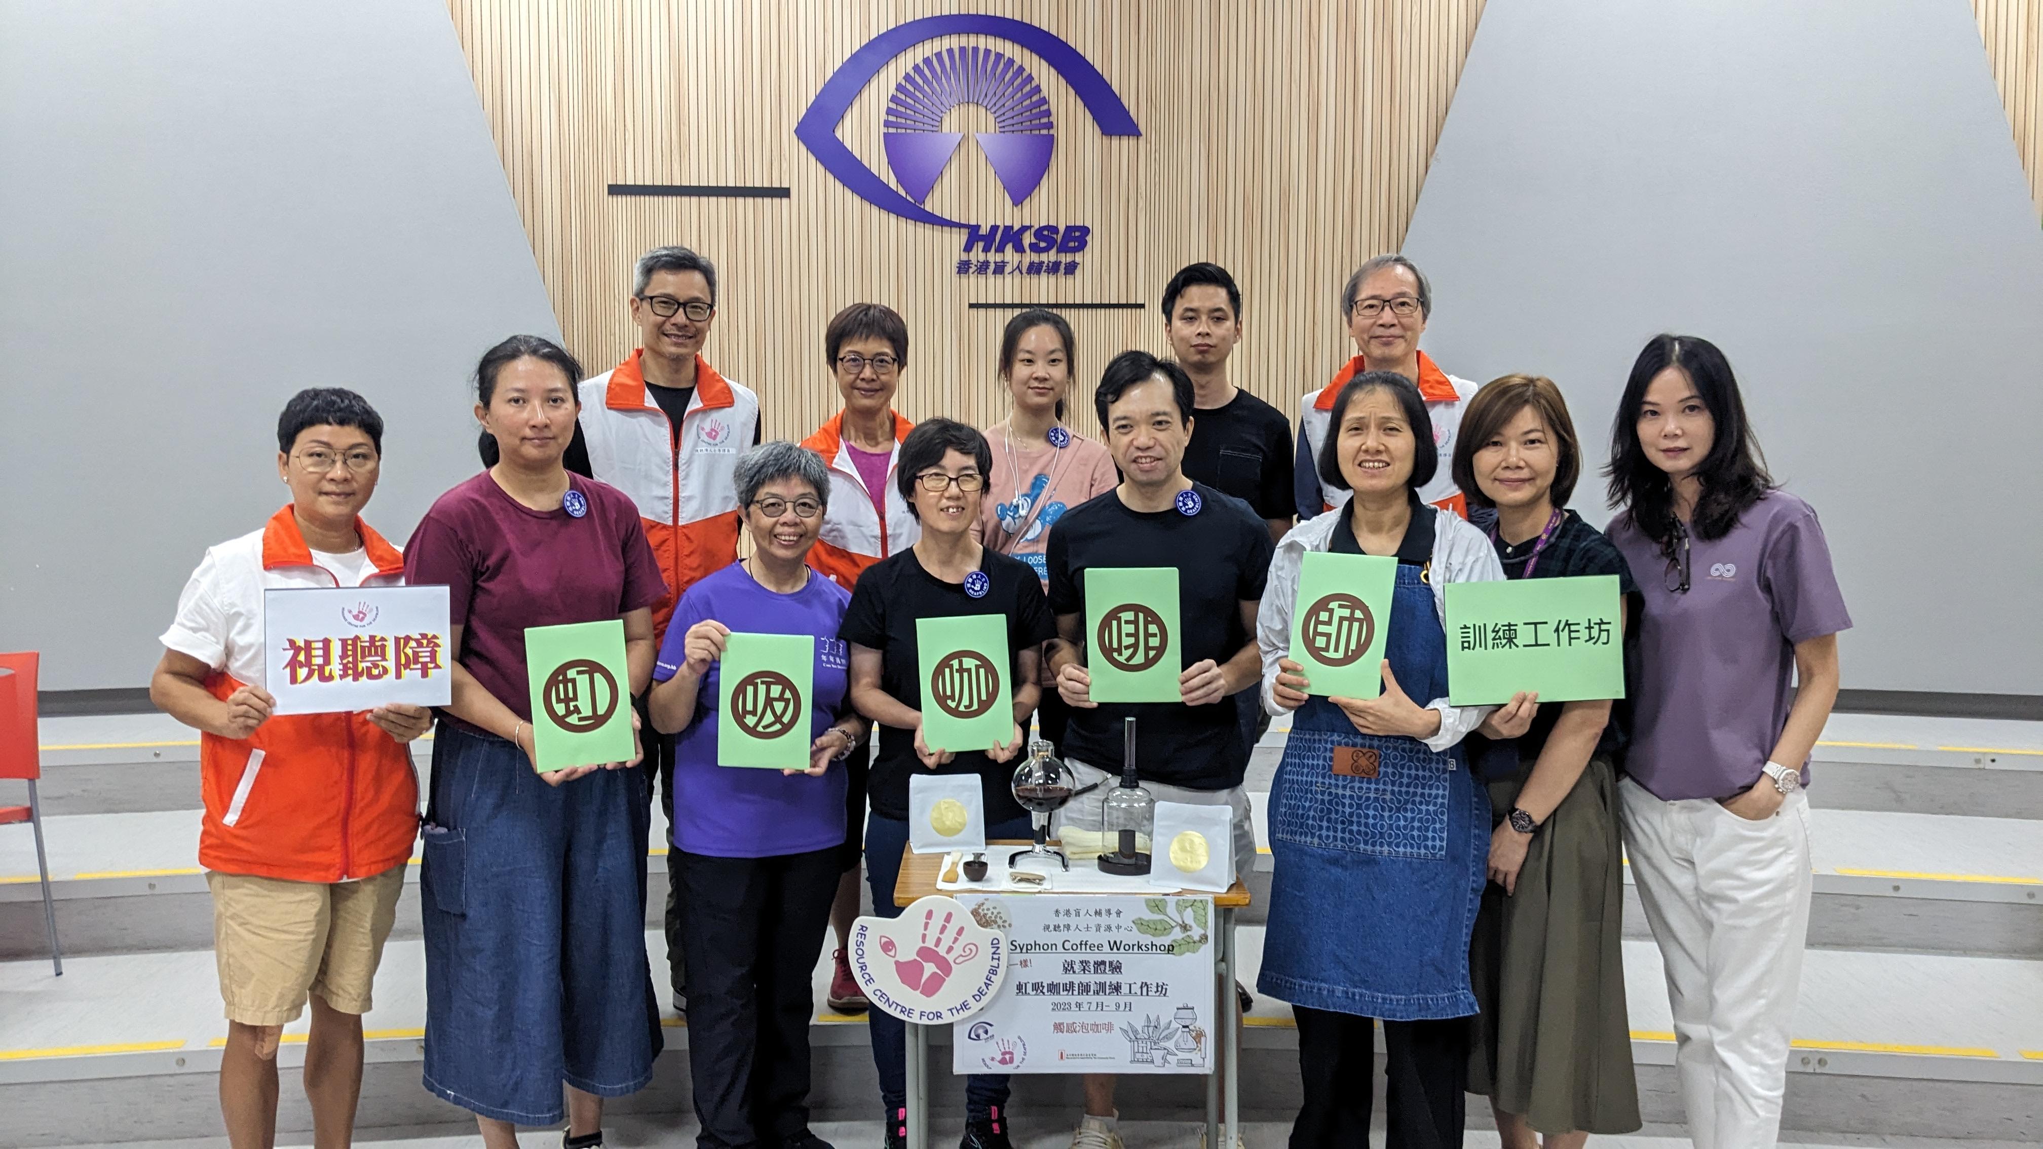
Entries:
MULTIPOLYGON (((995 846, 1028 846, 1028 840, 989 840, 987 853, 995 846)), ((1073 865, 1095 865, 1093 859, 1077 859, 1073 865)), ((968 889, 938 889, 936 879, 944 869, 944 855, 917 855, 909 848, 901 851, 901 877, 895 881, 895 906, 911 906, 917 898, 954 895, 970 893, 968 889)), ((1026 898, 1028 893, 1013 889, 993 889, 987 893, 1015 893, 1026 898)), ((1056 893, 1046 891, 1046 893, 1056 893)), ((1144 893, 1162 893, 1171 898, 1169 891, 1152 889, 1144 893)), ((1101 898, 1099 893, 1073 893, 1073 898, 1101 898)), ((1218 918, 1220 945, 1214 947, 1214 1008, 1220 1012, 1220 1043, 1214 1047, 1214 1069, 1205 1075, 1205 1145, 1211 1147, 1234 1147, 1238 1135, 1236 1122, 1240 1120, 1240 1041, 1242 1041, 1242 1014, 1234 998, 1234 979, 1238 973, 1234 957, 1234 912, 1248 906, 1248 887, 1242 883, 1242 875, 1234 875, 1234 885, 1226 893, 1207 893, 1203 889, 1181 889, 1179 898, 1211 898, 1214 916, 1218 918), (1226 1098, 1226 1106, 1222 1106, 1226 1098)), ((1126 898, 1126 893, 1107 895, 1126 898)), ((930 1149, 930 1026, 907 1022, 907 1149, 930 1149)))

